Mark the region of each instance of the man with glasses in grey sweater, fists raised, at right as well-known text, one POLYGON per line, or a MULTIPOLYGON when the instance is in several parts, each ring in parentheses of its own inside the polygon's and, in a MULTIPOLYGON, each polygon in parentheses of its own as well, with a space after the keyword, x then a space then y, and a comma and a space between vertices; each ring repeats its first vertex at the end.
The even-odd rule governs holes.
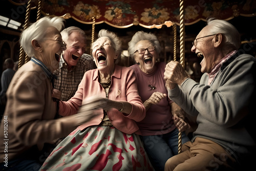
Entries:
POLYGON ((191 48, 203 57, 200 83, 179 62, 166 65, 168 97, 197 116, 198 128, 165 170, 247 170, 254 164, 256 60, 239 48, 237 29, 210 18, 191 48))

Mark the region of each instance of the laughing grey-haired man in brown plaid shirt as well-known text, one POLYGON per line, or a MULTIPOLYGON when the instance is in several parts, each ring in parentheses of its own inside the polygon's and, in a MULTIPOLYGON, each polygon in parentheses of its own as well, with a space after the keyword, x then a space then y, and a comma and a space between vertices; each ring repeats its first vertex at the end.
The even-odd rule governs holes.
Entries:
POLYGON ((62 101, 68 101, 75 95, 83 74, 95 69, 93 57, 84 54, 86 51, 86 34, 78 27, 69 27, 61 32, 67 49, 62 52, 59 68, 54 72, 53 96, 62 101))

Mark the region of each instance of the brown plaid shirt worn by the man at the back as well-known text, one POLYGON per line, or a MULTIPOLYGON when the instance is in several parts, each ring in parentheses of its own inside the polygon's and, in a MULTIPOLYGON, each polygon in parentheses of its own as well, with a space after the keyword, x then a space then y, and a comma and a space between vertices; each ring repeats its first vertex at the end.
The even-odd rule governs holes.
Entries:
POLYGON ((54 80, 54 88, 61 92, 60 100, 68 101, 73 97, 84 73, 95 68, 93 57, 88 54, 83 54, 78 60, 76 66, 73 66, 72 70, 68 71, 67 63, 61 55, 59 68, 53 72, 54 75, 58 77, 57 80, 54 80))

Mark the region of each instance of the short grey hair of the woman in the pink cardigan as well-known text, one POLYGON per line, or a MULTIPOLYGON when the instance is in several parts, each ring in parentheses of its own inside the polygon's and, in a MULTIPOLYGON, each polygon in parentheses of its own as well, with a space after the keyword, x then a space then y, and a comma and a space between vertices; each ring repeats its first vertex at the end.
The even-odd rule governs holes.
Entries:
MULTIPOLYGON (((111 40, 111 46, 114 48, 114 50, 116 52, 118 52, 118 57, 121 55, 122 41, 119 39, 119 37, 117 37, 117 35, 114 32, 102 29, 98 33, 98 38, 100 38, 100 37, 108 37, 111 40)), ((93 42, 91 48, 94 47, 94 44, 95 44, 96 41, 93 42)))

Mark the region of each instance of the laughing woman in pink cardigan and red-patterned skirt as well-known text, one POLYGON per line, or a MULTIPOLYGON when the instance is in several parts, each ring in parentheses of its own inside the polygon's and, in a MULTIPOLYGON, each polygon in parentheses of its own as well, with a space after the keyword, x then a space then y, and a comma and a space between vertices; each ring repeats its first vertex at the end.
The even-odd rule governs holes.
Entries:
POLYGON ((116 34, 101 30, 92 44, 97 69, 87 71, 74 97, 60 101, 62 116, 94 116, 64 139, 40 170, 153 170, 136 121, 145 117, 134 71, 115 65, 116 34))

